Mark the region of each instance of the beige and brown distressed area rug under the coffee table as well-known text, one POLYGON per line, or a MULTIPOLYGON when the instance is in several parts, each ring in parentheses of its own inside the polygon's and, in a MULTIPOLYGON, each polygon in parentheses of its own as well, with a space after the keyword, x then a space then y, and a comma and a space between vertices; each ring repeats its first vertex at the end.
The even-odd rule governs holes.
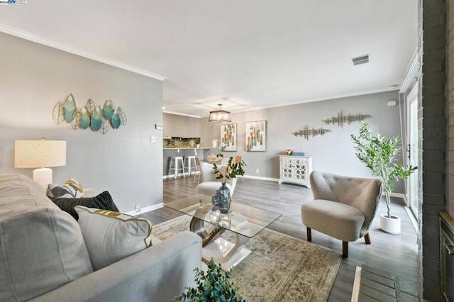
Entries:
MULTIPOLYGON (((189 230, 189 216, 154 225, 160 240, 189 230)), ((302 228, 302 227, 301 227, 302 228)), ((224 239, 232 240, 226 232, 224 239)), ((265 229, 245 247, 252 253, 233 267, 231 281, 246 301, 326 301, 341 264, 341 252, 265 229)))

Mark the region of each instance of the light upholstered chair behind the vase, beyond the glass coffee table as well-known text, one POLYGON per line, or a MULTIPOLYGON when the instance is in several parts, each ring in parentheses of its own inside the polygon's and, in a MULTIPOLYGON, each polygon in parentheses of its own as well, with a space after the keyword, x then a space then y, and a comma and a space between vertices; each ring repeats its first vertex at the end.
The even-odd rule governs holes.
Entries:
MULTIPOLYGON (((218 169, 222 174, 226 173, 226 165, 218 164, 218 169)), ((213 164, 209 162, 200 163, 200 177, 201 183, 196 186, 196 194, 204 194, 206 196, 213 196, 216 190, 221 187, 221 179, 216 179, 217 174, 214 174, 213 164)), ((226 186, 230 189, 230 196, 233 196, 235 191, 236 178, 227 179, 226 186)))

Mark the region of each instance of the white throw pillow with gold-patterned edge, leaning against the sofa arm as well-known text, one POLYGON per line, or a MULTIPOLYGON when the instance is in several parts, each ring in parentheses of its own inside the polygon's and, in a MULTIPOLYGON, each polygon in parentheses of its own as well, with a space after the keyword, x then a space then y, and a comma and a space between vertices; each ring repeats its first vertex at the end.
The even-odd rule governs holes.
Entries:
POLYGON ((151 245, 151 223, 147 219, 85 206, 74 209, 95 270, 151 245))

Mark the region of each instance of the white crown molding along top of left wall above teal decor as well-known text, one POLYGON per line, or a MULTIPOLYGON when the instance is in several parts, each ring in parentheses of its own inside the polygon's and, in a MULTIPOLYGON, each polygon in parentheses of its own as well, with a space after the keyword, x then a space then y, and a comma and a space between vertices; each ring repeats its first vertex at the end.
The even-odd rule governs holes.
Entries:
POLYGON ((148 72, 145 69, 140 69, 140 68, 137 68, 137 67, 133 67, 131 65, 123 64, 123 63, 118 62, 118 61, 109 60, 106 57, 100 57, 98 55, 93 55, 92 53, 84 52, 84 51, 79 50, 79 49, 77 49, 75 47, 72 47, 70 45, 65 45, 65 44, 62 44, 62 43, 58 43, 58 42, 56 42, 54 40, 49 40, 49 39, 43 38, 43 37, 41 37, 39 35, 34 35, 33 33, 28 33, 28 32, 23 31, 23 30, 18 30, 17 28, 11 28, 9 26, 6 26, 5 24, 1 24, 0 23, 0 31, 3 32, 3 33, 7 33, 9 35, 14 35, 14 36, 16 36, 18 38, 23 38, 25 40, 29 40, 29 41, 32 41, 32 42, 35 42, 35 43, 39 43, 39 44, 46 45, 46 46, 49 46, 49 47, 52 47, 52 48, 56 48, 58 50, 63 50, 65 52, 70 52, 73 55, 78 55, 80 57, 86 57, 87 59, 94 60, 96 62, 101 62, 101 63, 104 63, 106 65, 111 65, 111 66, 114 66, 114 67, 118 67, 120 69, 127 70, 128 72, 134 72, 135 74, 141 74, 141 75, 143 75, 145 77, 150 77, 150 78, 157 79, 157 80, 160 80, 160 81, 164 81, 165 80, 165 77, 162 77, 160 74, 155 74, 153 72, 148 72))

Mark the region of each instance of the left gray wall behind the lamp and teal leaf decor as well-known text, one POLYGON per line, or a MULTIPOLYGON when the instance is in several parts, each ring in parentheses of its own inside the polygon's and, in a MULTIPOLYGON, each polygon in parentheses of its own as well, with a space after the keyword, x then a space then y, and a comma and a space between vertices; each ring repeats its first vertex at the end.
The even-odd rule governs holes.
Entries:
POLYGON ((107 190, 121 211, 162 202, 162 82, 0 33, 0 173, 14 168, 14 140, 67 141, 67 164, 53 182, 69 177, 96 193, 107 190), (72 93, 77 106, 111 99, 128 123, 105 135, 56 125, 52 108, 72 93), (150 135, 156 142, 150 142, 150 135))

